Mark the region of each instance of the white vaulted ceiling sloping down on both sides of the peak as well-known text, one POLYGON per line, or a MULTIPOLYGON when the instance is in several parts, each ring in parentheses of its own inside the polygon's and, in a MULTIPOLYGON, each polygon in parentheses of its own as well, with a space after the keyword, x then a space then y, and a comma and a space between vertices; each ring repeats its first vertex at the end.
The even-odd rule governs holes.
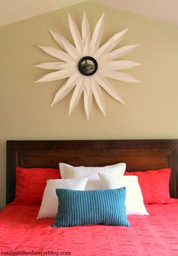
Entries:
POLYGON ((0 0, 0 26, 80 2, 96 2, 178 24, 178 0, 0 0))

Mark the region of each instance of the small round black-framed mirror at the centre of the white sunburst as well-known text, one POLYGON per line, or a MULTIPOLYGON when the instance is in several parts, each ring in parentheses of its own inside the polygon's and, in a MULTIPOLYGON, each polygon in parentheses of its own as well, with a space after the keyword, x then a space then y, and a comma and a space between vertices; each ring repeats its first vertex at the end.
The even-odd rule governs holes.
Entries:
POLYGON ((78 70, 84 76, 92 76, 97 72, 97 61, 91 56, 85 56, 78 62, 78 70))

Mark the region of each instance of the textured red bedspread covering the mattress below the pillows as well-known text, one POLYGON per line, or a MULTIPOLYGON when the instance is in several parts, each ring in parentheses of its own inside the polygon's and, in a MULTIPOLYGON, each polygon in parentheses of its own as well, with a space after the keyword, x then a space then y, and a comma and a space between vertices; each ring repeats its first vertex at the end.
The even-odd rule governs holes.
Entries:
POLYGON ((178 200, 146 205, 149 216, 129 216, 130 227, 76 226, 54 229, 36 220, 38 206, 8 205, 0 212, 1 254, 120 256, 178 255, 178 200))

